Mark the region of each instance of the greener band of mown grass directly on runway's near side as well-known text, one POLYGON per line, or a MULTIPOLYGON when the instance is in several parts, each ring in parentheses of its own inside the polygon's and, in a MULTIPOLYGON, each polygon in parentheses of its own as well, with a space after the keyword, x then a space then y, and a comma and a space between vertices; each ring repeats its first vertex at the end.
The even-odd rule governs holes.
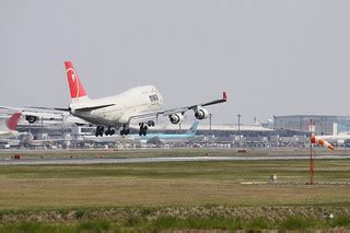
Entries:
MULTIPOLYGON (((319 182, 350 182, 350 160, 317 160, 315 174, 319 182)), ((176 162, 143 164, 96 165, 27 165, 0 166, 4 178, 202 178, 210 180, 254 179, 267 180, 270 174, 281 182, 307 179, 307 161, 231 161, 231 162, 176 162)))

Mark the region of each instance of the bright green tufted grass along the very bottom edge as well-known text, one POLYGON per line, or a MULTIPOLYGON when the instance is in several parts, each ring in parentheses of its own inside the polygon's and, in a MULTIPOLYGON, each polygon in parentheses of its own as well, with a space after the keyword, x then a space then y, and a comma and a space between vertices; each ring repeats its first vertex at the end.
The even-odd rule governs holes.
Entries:
POLYGON ((242 220, 233 218, 187 218, 160 217, 156 220, 145 221, 133 219, 126 222, 112 222, 108 220, 91 220, 80 223, 43 223, 21 222, 5 223, 0 225, 0 232, 26 232, 26 233, 50 233, 50 232, 162 232, 164 230, 228 230, 236 232, 282 230, 282 231, 312 231, 329 230, 334 228, 349 226, 349 218, 345 222, 335 220, 311 219, 290 217, 283 221, 273 222, 269 219, 242 220))

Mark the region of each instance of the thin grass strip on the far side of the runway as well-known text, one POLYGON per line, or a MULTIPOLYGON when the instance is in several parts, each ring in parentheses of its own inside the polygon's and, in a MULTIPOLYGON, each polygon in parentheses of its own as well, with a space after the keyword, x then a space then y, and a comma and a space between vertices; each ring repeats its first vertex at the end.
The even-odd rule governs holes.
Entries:
MULTIPOLYGON (((316 154, 350 154, 350 149, 329 151, 317 148, 316 154)), ((308 155, 304 149, 248 149, 247 153, 238 153, 233 149, 110 149, 110 150, 0 150, 1 159, 11 159, 13 154, 21 154, 25 159, 51 158, 159 158, 159 156, 235 156, 235 155, 308 155)))

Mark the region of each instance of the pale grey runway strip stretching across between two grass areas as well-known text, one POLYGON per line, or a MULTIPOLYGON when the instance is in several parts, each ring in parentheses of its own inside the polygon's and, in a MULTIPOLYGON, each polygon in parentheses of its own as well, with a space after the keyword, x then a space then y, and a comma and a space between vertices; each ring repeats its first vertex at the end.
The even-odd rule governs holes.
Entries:
MULTIPOLYGON (((308 160, 306 155, 260 155, 260 156, 171 156, 171 158, 79 158, 79 159, 3 159, 0 165, 84 165, 122 163, 164 163, 164 162, 214 162, 214 161, 272 161, 308 160)), ((316 155, 315 160, 348 160, 350 155, 316 155)))

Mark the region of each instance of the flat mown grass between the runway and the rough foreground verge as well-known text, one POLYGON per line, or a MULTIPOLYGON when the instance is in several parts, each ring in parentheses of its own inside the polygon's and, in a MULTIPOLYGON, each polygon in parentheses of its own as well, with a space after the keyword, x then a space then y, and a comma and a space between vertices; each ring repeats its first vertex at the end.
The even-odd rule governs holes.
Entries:
POLYGON ((350 160, 317 160, 315 179, 307 161, 0 166, 0 208, 350 206, 350 160))

